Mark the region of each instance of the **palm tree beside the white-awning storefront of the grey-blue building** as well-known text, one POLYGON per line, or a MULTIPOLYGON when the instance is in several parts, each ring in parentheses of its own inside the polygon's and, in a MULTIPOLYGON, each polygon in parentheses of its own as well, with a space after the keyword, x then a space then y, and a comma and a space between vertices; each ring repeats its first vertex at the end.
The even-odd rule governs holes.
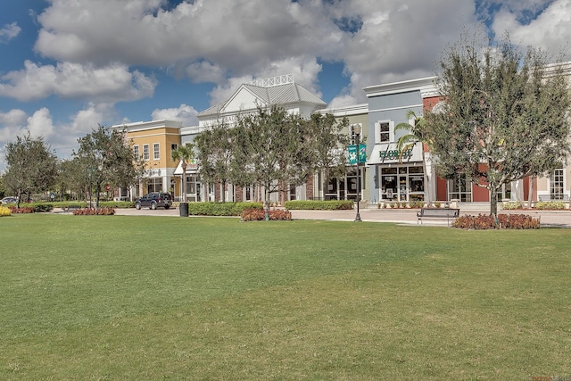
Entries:
POLYGON ((399 162, 402 162, 402 154, 412 149, 414 145, 420 142, 422 146, 422 170, 425 176, 425 193, 426 193, 426 204, 430 206, 432 203, 430 200, 430 185, 428 183, 428 173, 426 173, 426 158, 424 145, 430 147, 430 141, 423 138, 423 131, 426 128, 426 120, 423 117, 418 116, 414 111, 409 110, 407 112, 407 120, 414 120, 414 124, 402 122, 396 125, 394 131, 405 130, 406 134, 399 137, 396 143, 397 149, 399 151, 399 162))

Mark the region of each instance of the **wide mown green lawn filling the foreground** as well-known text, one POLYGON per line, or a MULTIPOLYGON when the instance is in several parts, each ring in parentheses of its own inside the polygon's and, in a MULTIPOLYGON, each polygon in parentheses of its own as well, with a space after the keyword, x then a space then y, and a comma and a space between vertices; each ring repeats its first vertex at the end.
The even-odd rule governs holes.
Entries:
POLYGON ((571 377, 571 232, 0 218, 0 379, 571 377))

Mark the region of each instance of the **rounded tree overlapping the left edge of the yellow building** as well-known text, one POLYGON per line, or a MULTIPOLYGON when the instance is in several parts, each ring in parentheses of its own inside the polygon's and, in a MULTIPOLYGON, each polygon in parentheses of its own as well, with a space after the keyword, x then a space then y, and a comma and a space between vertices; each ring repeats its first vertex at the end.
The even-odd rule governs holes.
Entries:
POLYGON ((125 131, 99 125, 85 137, 80 137, 79 151, 73 153, 84 184, 95 186, 95 207, 99 207, 103 184, 129 186, 135 183, 137 167, 133 150, 125 140, 125 131))

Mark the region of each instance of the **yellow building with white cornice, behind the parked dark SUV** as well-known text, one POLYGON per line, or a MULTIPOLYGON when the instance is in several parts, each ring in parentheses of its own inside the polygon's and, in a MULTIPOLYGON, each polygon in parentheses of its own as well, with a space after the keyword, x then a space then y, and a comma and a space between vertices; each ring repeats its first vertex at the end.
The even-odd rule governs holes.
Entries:
MULTIPOLYGON (((177 198, 180 178, 174 175, 178 162, 172 160, 172 151, 180 145, 182 122, 153 120, 113 126, 125 128, 128 141, 133 145, 133 155, 144 162, 145 171, 129 197, 134 200, 149 192, 170 193, 177 198)), ((124 195, 120 195, 124 197, 124 195)))

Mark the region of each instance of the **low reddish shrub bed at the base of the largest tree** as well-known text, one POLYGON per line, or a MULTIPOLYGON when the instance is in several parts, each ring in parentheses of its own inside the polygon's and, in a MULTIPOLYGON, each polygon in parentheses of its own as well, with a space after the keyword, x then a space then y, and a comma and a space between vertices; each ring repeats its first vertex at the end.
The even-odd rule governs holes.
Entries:
POLYGON ((460 216, 452 223, 452 228, 465 228, 465 229, 491 229, 491 228, 506 228, 506 229, 527 229, 539 228, 540 220, 534 219, 525 214, 499 214, 498 218, 494 216, 478 214, 477 216, 460 216))

